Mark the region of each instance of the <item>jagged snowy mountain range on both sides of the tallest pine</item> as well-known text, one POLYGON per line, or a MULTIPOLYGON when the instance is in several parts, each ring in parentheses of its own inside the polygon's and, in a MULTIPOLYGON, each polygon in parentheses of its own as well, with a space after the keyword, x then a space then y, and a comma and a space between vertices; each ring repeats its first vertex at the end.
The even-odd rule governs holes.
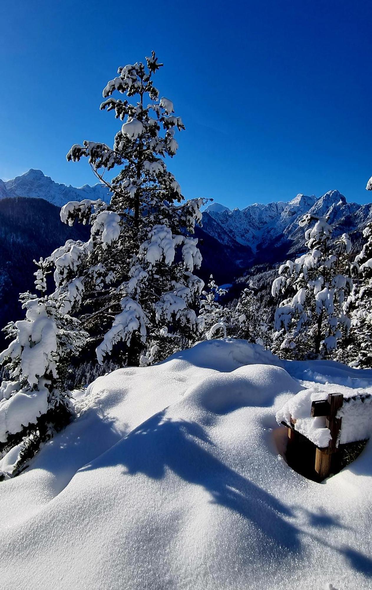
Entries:
MULTIPOLYGON (((109 194, 99 183, 76 188, 31 169, 12 180, 0 180, 0 201, 14 197, 44 199, 62 207, 68 201, 82 199, 108 201, 109 194)), ((38 207, 35 204, 35 215, 38 207)), ((203 212, 203 227, 196 232, 203 256, 203 278, 212 273, 220 284, 225 283, 244 274, 247 268, 277 264, 299 253, 304 248, 304 230, 298 221, 305 213, 329 217, 334 236, 343 232, 360 235, 366 223, 372 221, 372 204, 348 203, 336 190, 320 197, 298 194, 288 202, 255 203, 244 209, 231 210, 212 202, 203 212)))

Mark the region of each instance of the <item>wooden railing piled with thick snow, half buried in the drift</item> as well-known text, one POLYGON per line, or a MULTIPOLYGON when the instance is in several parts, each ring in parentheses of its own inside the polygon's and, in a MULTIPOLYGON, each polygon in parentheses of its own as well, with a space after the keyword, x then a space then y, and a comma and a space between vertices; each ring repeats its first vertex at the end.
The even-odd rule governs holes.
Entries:
MULTIPOLYGON (((320 480, 328 477, 333 466, 333 456, 340 445, 368 440, 372 434, 372 394, 344 397, 328 394, 327 399, 311 402, 310 417, 304 418, 304 401, 297 394, 298 403, 285 404, 278 412, 277 420, 288 428, 291 445, 298 435, 307 438, 315 447, 315 472, 320 480), (289 410, 289 411, 288 411, 289 410), (293 412, 293 415, 291 414, 293 412)), ((295 398, 297 398, 295 396, 295 398)))

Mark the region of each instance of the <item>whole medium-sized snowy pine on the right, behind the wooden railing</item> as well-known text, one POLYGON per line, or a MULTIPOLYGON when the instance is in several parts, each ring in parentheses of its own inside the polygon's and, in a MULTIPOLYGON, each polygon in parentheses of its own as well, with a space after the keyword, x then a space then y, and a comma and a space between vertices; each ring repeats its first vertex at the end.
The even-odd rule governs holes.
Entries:
POLYGON ((271 291, 273 297, 285 296, 275 312, 272 350, 287 358, 330 356, 350 329, 344 310, 353 289, 350 240, 343 234, 332 242, 332 228, 323 217, 306 214, 300 226, 310 224, 308 252, 281 265, 271 291))

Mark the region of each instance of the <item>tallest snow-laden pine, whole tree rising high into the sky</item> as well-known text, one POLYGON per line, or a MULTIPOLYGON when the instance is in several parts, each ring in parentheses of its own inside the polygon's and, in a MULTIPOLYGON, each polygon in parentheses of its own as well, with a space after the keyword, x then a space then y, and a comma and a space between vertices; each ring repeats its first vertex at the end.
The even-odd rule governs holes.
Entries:
POLYGON ((110 203, 65 205, 62 221, 90 224, 91 237, 68 241, 45 261, 54 269, 52 297, 62 313, 81 320, 99 363, 109 355, 121 364, 151 362, 154 346, 159 359, 180 348, 180 340, 194 339, 201 322, 194 310, 204 284, 193 274, 201 255, 192 234, 202 199, 182 202, 180 185, 167 171, 163 158, 177 152, 175 130, 184 124, 153 84, 162 64, 154 52, 146 61, 147 67, 120 67, 103 91, 101 109, 122 122, 113 148, 84 141, 67 154, 74 162, 88 158, 110 203), (115 91, 137 101, 115 99, 115 91), (106 179, 118 166, 115 178, 106 179))

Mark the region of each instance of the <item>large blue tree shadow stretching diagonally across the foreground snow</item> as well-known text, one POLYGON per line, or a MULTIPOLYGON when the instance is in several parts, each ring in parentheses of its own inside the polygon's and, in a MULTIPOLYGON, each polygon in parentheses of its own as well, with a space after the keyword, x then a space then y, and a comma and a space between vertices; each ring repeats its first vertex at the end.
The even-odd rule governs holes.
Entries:
MULTIPOLYGON (((162 411, 83 470, 122 464, 125 474, 144 473, 159 480, 171 470, 182 480, 207 490, 212 503, 250 521, 266 540, 275 543, 275 559, 300 552, 298 530, 284 520, 293 516, 291 510, 214 457, 208 446, 212 442, 203 428, 193 422, 164 419, 162 411)), ((270 545, 273 543, 260 544, 261 552, 270 553, 270 545)))

